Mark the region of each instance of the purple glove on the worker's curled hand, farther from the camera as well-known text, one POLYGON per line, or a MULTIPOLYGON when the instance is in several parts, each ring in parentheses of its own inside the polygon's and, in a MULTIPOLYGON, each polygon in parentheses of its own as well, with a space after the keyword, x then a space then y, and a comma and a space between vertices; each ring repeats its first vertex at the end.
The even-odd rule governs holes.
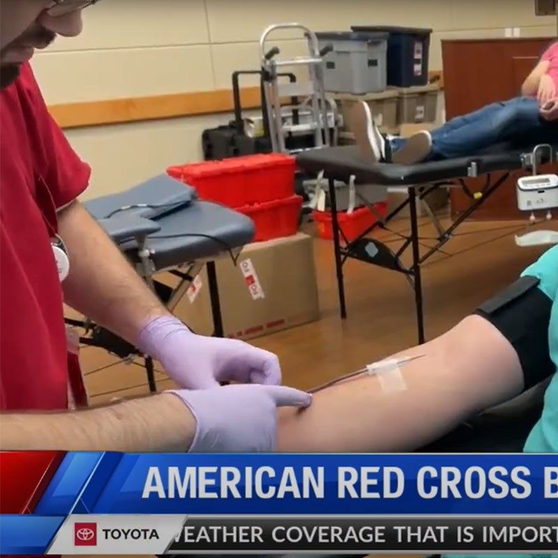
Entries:
POLYGON ((162 316, 146 324, 140 347, 163 364, 167 374, 188 389, 207 389, 220 382, 281 383, 279 359, 243 341, 192 333, 179 319, 162 316))

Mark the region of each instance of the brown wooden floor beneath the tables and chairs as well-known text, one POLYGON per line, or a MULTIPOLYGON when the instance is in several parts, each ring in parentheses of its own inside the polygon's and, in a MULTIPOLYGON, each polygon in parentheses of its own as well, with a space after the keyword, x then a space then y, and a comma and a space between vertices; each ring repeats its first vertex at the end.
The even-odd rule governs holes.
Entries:
MULTIPOLYGON (((397 233, 406 232, 407 227, 406 220, 395 221, 395 233, 382 232, 379 237, 389 246, 398 246, 397 233)), ((552 227, 558 227, 556 222, 541 225, 552 227)), ((515 246, 513 235, 525 230, 525 223, 465 223, 446 243, 444 252, 424 264, 427 338, 458 322, 545 251, 543 247, 515 246)), ((424 246, 432 246, 434 232, 423 218, 420 234, 424 246)), ((362 262, 347 262, 348 317, 342 321, 332 243, 316 239, 315 257, 322 319, 252 341, 278 354, 285 384, 307 389, 416 344, 414 294, 405 276, 362 262)), ((100 349, 87 347, 82 349, 82 367, 93 404, 148 391, 139 363, 124 364, 100 349)), ((161 370, 157 380, 159 389, 172 386, 161 370)))

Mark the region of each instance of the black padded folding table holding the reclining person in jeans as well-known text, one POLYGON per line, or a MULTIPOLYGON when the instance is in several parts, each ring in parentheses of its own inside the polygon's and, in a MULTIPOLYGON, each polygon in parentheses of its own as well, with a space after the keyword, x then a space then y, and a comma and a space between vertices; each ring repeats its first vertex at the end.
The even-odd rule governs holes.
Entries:
MULTIPOLYGON (((343 264, 347 259, 360 259, 361 261, 380 265, 393 271, 403 273, 414 289, 416 306, 416 323, 418 331, 418 343, 425 342, 424 333, 424 310, 423 289, 421 278, 421 265, 435 252, 440 250, 444 244, 451 239, 453 232, 469 216, 472 215, 485 201, 511 176, 515 170, 532 169, 537 174, 537 166, 544 163, 552 163, 558 159, 558 145, 540 144, 538 146, 526 146, 524 149, 510 149, 508 144, 493 146, 486 153, 476 156, 464 157, 454 160, 429 161, 416 165, 393 165, 388 163, 370 163, 363 160, 356 146, 341 146, 333 148, 315 149, 301 153, 297 157, 297 163, 303 172, 317 176, 322 174, 329 182, 329 197, 331 204, 331 216, 333 226, 333 250, 335 256, 335 271, 337 274, 338 294, 340 302, 340 315, 342 319, 347 317, 347 303, 345 301, 345 282, 343 279, 343 264), (493 179, 492 173, 504 173, 497 179, 493 179), (432 177, 435 178, 432 178, 432 177), (485 184, 480 191, 472 193, 466 178, 478 178, 485 176, 485 184), (355 183, 372 183, 378 186, 406 188, 407 199, 396 207, 384 219, 378 219, 376 223, 368 227, 357 239, 348 241, 339 225, 337 200, 335 198, 335 180, 345 183, 349 177, 355 183), (458 186, 472 199, 472 204, 445 230, 439 227, 436 246, 430 248, 421 255, 418 237, 418 215, 416 211, 417 200, 425 197, 441 186, 458 186), (372 239, 365 239, 378 227, 386 227, 395 216, 409 205, 411 232, 405 237, 405 241, 397 252, 391 251, 385 244, 372 239), (343 246, 342 242, 343 241, 343 246), (381 259, 374 261, 373 257, 363 255, 363 246, 374 244, 382 248, 384 256, 389 255, 386 261, 379 263, 381 259), (401 255, 411 246, 412 265, 405 267, 400 262, 401 255), (357 248, 361 250, 357 250, 357 248)), ((358 195, 358 188, 357 188, 358 195)), ((367 204, 372 211, 374 206, 367 204)))

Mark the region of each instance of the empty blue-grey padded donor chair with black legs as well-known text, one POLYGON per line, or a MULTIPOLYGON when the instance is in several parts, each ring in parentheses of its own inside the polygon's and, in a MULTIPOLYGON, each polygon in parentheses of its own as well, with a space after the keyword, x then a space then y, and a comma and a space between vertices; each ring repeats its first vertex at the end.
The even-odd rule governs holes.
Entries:
MULTIPOLYGON (((84 206, 170 311, 205 265, 214 335, 223 336, 215 260, 231 257, 236 262, 243 246, 254 238, 250 218, 197 199, 193 188, 166 174, 84 206), (158 280, 163 271, 179 278, 176 287, 158 280)), ((66 322, 84 331, 80 338, 84 345, 107 349, 122 359, 144 357, 149 389, 156 391, 149 356, 140 355, 133 345, 88 319, 66 322)))

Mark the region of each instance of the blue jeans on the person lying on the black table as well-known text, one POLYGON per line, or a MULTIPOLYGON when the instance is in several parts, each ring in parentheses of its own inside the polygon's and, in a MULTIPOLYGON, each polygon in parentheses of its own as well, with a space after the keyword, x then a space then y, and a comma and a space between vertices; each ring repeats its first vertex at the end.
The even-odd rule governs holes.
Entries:
MULTIPOLYGON (((530 146, 558 140, 558 123, 541 119, 538 101, 517 97, 458 116, 432 131, 429 159, 467 157, 499 143, 530 146)), ((397 151, 403 138, 391 140, 397 151)))

